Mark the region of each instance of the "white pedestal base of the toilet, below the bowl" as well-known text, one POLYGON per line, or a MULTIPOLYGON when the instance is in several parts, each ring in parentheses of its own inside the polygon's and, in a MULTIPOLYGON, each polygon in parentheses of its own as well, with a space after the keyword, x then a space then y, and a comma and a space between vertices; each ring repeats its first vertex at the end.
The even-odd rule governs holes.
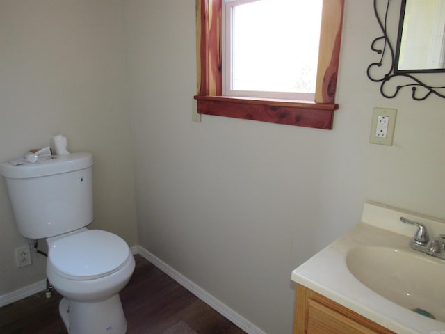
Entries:
POLYGON ((119 294, 97 302, 73 301, 65 297, 58 310, 70 334, 124 334, 127 331, 119 294))

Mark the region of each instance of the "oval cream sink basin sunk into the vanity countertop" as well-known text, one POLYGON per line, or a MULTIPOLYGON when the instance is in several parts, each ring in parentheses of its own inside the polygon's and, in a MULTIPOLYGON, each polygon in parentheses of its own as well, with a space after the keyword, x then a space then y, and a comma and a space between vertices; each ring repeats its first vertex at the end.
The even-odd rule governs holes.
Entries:
POLYGON ((445 261, 410 249, 355 246, 346 254, 346 265, 373 292, 445 322, 445 261))

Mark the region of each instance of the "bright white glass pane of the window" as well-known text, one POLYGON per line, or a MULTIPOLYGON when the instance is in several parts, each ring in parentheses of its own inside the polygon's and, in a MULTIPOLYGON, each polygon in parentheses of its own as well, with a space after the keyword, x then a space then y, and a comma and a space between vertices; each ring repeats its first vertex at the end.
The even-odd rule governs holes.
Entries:
POLYGON ((314 93, 322 0, 233 7, 232 90, 314 93))

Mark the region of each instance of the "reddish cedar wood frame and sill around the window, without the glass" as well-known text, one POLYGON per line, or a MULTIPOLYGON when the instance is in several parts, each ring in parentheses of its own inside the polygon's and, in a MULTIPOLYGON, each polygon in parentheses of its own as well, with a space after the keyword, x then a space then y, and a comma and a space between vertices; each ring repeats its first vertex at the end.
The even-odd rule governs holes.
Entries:
MULTIPOLYGON (((321 31, 314 101, 223 95, 221 54, 224 0, 197 0, 197 111, 320 129, 332 129, 344 0, 321 0, 321 31)), ((236 1, 236 0, 235 0, 236 1)), ((307 0, 314 1, 314 0, 307 0)), ((241 1, 240 1, 241 2, 241 1)), ((252 2, 250 0, 243 1, 252 2)), ((302 50, 305 47, 302 46, 302 50)), ((227 92, 225 92, 227 94, 227 92)))

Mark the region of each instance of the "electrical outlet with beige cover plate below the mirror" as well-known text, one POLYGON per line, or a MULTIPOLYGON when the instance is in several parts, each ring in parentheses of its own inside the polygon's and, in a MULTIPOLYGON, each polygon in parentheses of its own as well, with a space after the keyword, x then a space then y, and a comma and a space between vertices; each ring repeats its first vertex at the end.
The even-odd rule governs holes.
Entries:
POLYGON ((369 143, 392 145, 397 109, 374 108, 369 143))

